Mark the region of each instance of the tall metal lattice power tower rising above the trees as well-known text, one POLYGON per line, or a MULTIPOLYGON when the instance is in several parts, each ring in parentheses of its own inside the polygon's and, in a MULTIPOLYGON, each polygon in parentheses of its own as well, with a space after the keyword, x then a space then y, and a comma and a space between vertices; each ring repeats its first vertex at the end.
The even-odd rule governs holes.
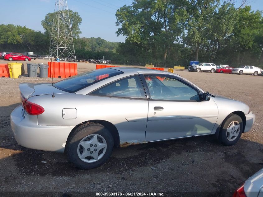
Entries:
POLYGON ((76 59, 67 0, 56 0, 49 57, 76 59))

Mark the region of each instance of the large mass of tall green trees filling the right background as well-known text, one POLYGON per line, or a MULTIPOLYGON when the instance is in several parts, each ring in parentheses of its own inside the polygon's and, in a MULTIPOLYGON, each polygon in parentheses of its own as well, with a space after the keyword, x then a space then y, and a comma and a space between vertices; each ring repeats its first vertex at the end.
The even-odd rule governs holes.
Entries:
MULTIPOLYGON (((119 53, 129 59, 188 65, 263 64, 262 11, 228 0, 134 0, 116 12, 119 53)), ((117 50, 118 51, 118 50, 117 50)))

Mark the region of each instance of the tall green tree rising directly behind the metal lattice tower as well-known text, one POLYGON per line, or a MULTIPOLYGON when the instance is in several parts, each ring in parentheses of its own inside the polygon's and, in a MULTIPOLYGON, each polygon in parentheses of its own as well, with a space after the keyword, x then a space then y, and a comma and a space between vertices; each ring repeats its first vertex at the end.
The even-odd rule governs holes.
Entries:
MULTIPOLYGON (((57 11, 58 12, 58 11, 57 11)), ((72 36, 74 38, 79 38, 79 34, 81 34, 79 25, 82 22, 82 18, 79 16, 78 12, 73 12, 72 10, 68 10, 70 25, 72 30, 72 36)), ((52 26, 53 26, 54 12, 48 13, 45 16, 45 19, 41 21, 41 24, 45 30, 47 35, 51 35, 52 26)))

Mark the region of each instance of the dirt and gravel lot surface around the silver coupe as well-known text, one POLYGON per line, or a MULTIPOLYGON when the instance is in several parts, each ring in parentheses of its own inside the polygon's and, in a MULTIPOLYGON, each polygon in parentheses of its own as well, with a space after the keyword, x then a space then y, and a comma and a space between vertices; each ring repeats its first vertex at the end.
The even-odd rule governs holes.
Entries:
MULTIPOLYGON (((78 73, 93 69, 95 64, 78 63, 78 73)), ((183 70, 176 73, 206 91, 248 104, 256 114, 251 131, 242 134, 231 147, 206 136, 115 148, 101 167, 78 170, 64 154, 21 147, 11 133, 9 115, 20 105, 18 84, 51 79, 0 78, 0 192, 61 191, 70 196, 75 191, 163 191, 184 196, 186 193, 178 192, 194 191, 231 196, 263 168, 263 77, 183 70)))

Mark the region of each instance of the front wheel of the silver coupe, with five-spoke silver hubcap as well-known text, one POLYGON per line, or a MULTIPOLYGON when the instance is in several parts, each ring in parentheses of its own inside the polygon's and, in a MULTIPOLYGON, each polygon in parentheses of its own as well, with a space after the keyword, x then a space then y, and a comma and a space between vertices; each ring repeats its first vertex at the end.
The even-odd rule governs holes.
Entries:
POLYGON ((229 114, 221 125, 218 140, 225 146, 232 146, 237 143, 242 132, 242 118, 236 114, 229 114))

